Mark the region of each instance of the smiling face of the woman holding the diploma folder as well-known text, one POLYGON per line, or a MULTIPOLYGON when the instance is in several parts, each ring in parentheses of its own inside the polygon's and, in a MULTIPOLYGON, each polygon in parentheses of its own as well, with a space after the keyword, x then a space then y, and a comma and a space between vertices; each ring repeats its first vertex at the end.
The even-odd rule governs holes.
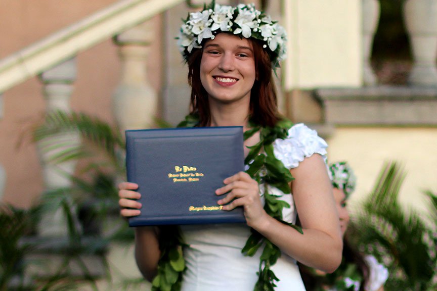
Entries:
POLYGON ((205 43, 200 80, 211 105, 239 101, 248 104, 255 78, 253 46, 248 39, 219 33, 205 43))

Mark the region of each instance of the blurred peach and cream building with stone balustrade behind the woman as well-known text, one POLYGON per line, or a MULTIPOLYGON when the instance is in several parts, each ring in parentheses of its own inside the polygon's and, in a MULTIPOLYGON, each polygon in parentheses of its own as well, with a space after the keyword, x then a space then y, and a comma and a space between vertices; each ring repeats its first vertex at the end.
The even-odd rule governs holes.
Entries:
MULTIPOLYGON (((371 191, 384 162, 396 160, 407 171, 401 200, 425 211, 422 190, 437 191, 437 1, 248 2, 286 27, 288 58, 276 79, 281 112, 316 129, 331 162, 351 164, 358 176, 351 204, 371 191)), ((43 190, 69 185, 26 138, 47 111, 84 112, 121 129, 182 120, 187 67, 174 37, 180 19, 202 6, 1 1, 0 200, 28 208, 43 190)), ((136 272, 131 254, 117 254, 136 272)))

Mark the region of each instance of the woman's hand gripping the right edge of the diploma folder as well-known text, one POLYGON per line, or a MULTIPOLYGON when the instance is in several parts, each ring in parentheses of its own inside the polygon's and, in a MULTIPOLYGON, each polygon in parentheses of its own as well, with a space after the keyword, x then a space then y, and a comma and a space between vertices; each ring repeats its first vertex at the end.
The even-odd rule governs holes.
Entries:
POLYGON ((242 206, 247 225, 256 229, 257 225, 263 223, 268 216, 259 198, 258 182, 245 172, 239 172, 223 182, 225 186, 215 190, 215 194, 228 194, 217 203, 223 205, 223 210, 242 206))

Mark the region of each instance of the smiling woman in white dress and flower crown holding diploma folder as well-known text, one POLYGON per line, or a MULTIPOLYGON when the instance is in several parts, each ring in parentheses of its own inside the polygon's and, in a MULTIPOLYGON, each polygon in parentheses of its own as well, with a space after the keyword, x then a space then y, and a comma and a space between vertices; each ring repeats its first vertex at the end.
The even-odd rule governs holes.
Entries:
MULTIPOLYGON (((225 211, 242 207, 246 224, 180 226, 185 269, 177 280, 163 263, 177 258, 162 245, 168 232, 137 227, 139 269, 149 280, 157 275, 156 289, 176 280, 190 291, 304 290, 296 261, 333 272, 342 240, 326 142, 278 114, 272 72, 285 55, 283 28, 253 5, 213 5, 190 13, 179 45, 192 87, 191 114, 182 125, 245 130, 247 171, 226 178, 215 194, 225 211), (293 226, 297 214, 302 233, 293 226)), ((141 212, 135 199, 147 192, 137 187, 119 185, 124 217, 141 212)))

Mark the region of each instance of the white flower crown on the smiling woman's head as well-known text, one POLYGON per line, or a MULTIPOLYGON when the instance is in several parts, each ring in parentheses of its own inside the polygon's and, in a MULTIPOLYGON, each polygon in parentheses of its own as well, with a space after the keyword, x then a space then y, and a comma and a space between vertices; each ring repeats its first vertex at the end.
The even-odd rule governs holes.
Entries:
POLYGON ((272 21, 270 16, 256 10, 254 4, 233 7, 212 1, 202 11, 189 13, 181 26, 177 39, 184 60, 188 60, 193 49, 202 47, 204 39, 214 39, 220 32, 261 40, 270 55, 273 68, 279 67, 279 62, 285 59, 285 29, 272 21))

